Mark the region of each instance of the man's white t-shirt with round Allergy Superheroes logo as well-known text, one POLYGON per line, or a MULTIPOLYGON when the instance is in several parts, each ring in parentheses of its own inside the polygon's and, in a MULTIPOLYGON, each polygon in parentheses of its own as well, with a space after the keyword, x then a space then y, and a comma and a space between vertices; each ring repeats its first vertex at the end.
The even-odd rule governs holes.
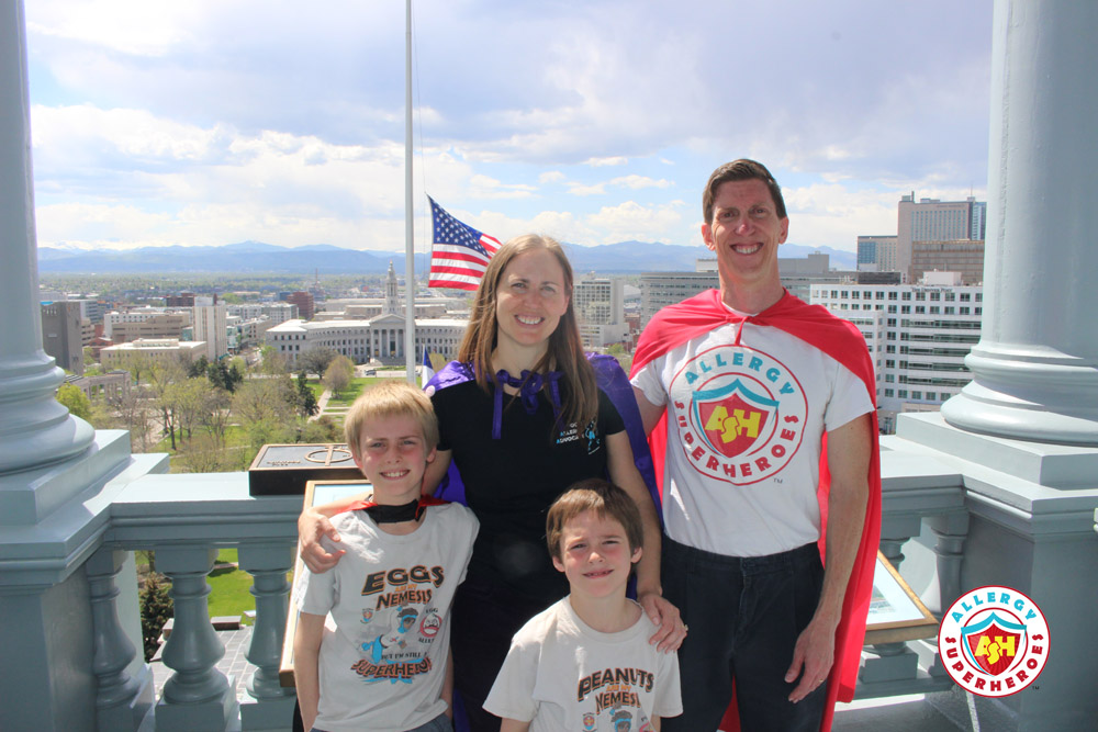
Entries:
POLYGON ((849 369, 783 330, 744 323, 674 348, 631 381, 668 409, 668 536, 727 556, 819 540, 821 437, 873 410, 849 369))

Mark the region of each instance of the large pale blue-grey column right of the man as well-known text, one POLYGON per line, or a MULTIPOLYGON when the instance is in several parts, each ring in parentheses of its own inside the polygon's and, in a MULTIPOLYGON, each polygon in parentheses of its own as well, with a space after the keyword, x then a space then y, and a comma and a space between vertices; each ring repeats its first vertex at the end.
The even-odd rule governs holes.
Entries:
POLYGON ((1098 3, 997 0, 984 312, 945 420, 1098 444, 1098 3))

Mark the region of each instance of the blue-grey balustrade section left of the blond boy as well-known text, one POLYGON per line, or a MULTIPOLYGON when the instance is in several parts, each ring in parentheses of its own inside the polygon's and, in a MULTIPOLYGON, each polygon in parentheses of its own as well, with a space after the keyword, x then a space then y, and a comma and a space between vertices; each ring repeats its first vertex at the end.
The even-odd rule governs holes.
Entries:
POLYGON ((161 652, 172 673, 152 712, 155 729, 289 729, 293 690, 280 686, 278 667, 300 510, 300 496, 249 496, 246 473, 146 475, 112 502, 102 547, 86 566, 98 608, 99 729, 136 729, 127 722, 138 685, 124 671, 136 651, 116 607, 136 603, 120 596, 116 582, 124 553, 133 550, 156 552, 175 601, 161 652), (210 623, 206 577, 221 548, 237 549, 240 568, 253 576, 256 624, 247 658, 257 669, 245 679, 227 678, 216 666, 225 650, 210 623), (243 703, 238 684, 246 688, 243 703))

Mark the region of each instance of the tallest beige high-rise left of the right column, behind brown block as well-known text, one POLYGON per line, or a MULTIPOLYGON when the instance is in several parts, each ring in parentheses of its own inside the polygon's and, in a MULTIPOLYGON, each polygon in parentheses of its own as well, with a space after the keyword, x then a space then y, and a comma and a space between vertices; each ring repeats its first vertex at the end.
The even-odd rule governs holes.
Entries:
POLYGON ((900 199, 897 209, 896 268, 908 282, 917 281, 912 269, 915 241, 983 241, 986 221, 987 204, 971 195, 965 201, 920 199, 916 202, 915 191, 911 191, 910 195, 900 199))

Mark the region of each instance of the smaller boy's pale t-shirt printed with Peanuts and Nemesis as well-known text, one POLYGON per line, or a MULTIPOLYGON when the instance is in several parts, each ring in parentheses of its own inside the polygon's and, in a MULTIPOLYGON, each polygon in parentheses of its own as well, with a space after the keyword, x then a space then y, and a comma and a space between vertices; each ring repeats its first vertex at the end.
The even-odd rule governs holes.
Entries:
POLYGON ((601 633, 565 597, 515 633, 484 709, 530 721, 530 732, 650 732, 653 718, 683 710, 679 656, 649 644, 654 631, 641 612, 601 633))

